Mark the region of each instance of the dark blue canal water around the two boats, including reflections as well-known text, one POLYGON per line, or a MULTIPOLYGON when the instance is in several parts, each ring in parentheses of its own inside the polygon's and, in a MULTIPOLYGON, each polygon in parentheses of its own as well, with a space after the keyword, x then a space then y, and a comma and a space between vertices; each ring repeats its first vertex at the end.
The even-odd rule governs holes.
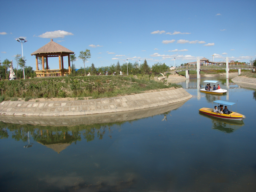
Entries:
POLYGON ((210 95, 199 91, 204 80, 176 82, 193 97, 149 110, 1 116, 0 191, 255 192, 256 89, 218 78, 228 92, 210 95), (236 102, 232 111, 246 118, 199 113, 215 100, 236 102))

